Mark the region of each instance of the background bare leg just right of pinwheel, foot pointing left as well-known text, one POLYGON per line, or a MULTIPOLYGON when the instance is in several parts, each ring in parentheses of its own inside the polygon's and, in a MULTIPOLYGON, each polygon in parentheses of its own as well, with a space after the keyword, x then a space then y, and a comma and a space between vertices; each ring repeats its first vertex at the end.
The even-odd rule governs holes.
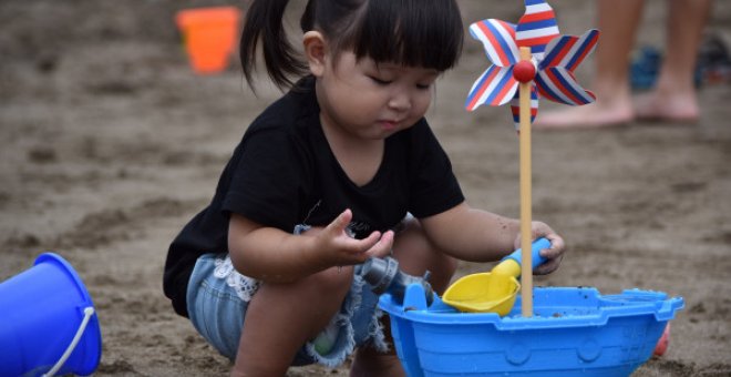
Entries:
POLYGON ((555 112, 538 112, 536 129, 600 128, 634 119, 629 88, 629 58, 642 14, 641 0, 598 0, 601 31, 594 61, 596 77, 588 86, 597 95, 591 104, 555 112))

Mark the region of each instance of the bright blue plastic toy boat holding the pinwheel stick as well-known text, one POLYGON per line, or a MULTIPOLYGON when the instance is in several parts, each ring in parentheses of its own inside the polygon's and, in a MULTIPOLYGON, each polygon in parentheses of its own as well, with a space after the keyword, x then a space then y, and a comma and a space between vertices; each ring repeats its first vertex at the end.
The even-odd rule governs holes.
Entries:
POLYGON ((652 355, 681 297, 628 289, 536 287, 534 316, 521 297, 505 317, 460 313, 419 285, 403 303, 382 295, 394 348, 406 374, 421 376, 629 376, 652 355))

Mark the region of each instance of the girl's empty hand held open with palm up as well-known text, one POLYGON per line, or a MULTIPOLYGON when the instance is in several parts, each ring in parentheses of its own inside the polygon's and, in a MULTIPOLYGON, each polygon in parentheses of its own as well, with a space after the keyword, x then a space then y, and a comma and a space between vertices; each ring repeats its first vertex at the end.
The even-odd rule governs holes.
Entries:
POLYGON ((356 265, 366 262, 371 256, 383 257, 393 247, 393 232, 373 232, 363 240, 348 235, 346 228, 352 220, 350 210, 343 211, 332 223, 318 232, 316 245, 323 262, 328 266, 356 265))

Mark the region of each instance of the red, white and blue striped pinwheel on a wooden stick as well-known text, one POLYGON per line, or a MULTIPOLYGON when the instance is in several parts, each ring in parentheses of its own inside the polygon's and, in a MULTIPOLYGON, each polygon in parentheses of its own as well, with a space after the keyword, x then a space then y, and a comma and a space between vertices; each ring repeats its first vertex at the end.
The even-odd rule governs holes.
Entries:
POLYGON ((521 292, 522 314, 533 315, 531 123, 538 113, 538 99, 581 105, 594 102, 594 93, 581 88, 574 70, 594 50, 599 31, 581 37, 558 35, 553 8, 544 0, 525 0, 525 14, 517 26, 488 19, 470 27, 493 63, 475 81, 466 100, 470 111, 481 104, 511 110, 521 147, 521 292))

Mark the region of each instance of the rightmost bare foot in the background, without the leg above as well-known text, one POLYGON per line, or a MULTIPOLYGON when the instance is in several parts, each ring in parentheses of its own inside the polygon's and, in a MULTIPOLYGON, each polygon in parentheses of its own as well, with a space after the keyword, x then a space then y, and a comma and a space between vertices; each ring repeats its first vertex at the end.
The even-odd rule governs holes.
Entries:
POLYGON ((642 121, 696 122, 699 115, 694 94, 650 92, 635 100, 635 113, 642 121))

